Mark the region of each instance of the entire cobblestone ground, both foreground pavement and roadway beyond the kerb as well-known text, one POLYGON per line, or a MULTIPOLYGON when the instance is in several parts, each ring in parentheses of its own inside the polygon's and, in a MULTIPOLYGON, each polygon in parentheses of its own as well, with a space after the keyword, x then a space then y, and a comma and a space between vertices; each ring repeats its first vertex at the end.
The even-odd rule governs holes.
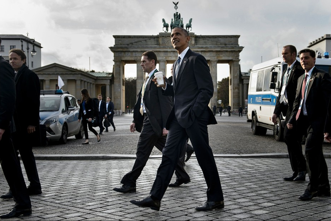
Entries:
MULTIPOLYGON (((34 148, 43 193, 31 197, 31 216, 13 220, 331 220, 331 198, 298 199, 308 176, 302 182, 283 180, 292 174, 289 159, 285 158, 286 145, 274 141, 271 131, 266 136, 254 136, 245 116, 216 119, 218 124, 210 125, 208 130, 224 191, 224 209, 194 209, 206 201, 207 188, 195 157, 185 165, 191 182, 168 188, 160 211, 132 205, 129 200, 149 194, 161 162, 158 150, 153 151, 137 180, 135 194, 113 191, 132 168, 139 137, 139 133, 128 129, 132 115, 125 115, 114 118, 116 131, 101 135, 100 143, 90 134, 90 145, 82 146, 84 140, 70 137, 66 145, 51 143, 34 148)), ((330 168, 330 145, 323 149, 330 168)), ((27 182, 24 170, 23 174, 27 182)), ((7 191, 1 170, 0 194, 7 191)), ((13 200, 0 200, 0 214, 9 212, 13 205, 13 200)))

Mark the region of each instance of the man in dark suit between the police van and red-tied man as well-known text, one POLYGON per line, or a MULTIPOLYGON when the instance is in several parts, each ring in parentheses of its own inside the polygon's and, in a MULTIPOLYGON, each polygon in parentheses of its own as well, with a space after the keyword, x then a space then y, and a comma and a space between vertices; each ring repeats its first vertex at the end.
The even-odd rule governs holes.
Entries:
MULTIPOLYGON (((274 124, 277 124, 277 118, 280 118, 281 114, 286 116, 285 125, 288 123, 293 109, 298 78, 305 73, 300 62, 296 60, 296 53, 296 48, 293 45, 283 47, 282 55, 284 62, 287 63, 287 69, 284 70, 282 75, 280 94, 271 118, 274 124)), ((294 125, 291 130, 289 130, 287 126, 284 128, 284 141, 287 145, 293 171, 292 176, 284 177, 286 181, 306 180, 306 159, 302 154, 302 136, 300 134, 301 133, 297 132, 296 125, 294 125)))

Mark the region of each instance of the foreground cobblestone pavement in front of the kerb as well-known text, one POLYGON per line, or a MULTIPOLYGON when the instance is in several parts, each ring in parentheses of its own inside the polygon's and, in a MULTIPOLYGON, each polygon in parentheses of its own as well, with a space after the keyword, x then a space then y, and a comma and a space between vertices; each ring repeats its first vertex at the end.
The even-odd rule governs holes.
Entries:
MULTIPOLYGON (((330 168, 331 159, 326 161, 330 168)), ((37 160, 43 193, 31 197, 33 214, 16 220, 331 219, 331 198, 300 201, 298 197, 308 181, 283 181, 284 176, 291 174, 286 158, 216 158, 225 208, 208 212, 194 209, 206 201, 206 184, 195 158, 185 165, 191 182, 168 188, 158 212, 134 206, 129 200, 142 199, 149 194, 160 159, 147 162, 137 180, 135 194, 112 190, 120 185, 122 176, 131 169, 133 162, 133 159, 37 160)), ((1 171, 0 192, 7 191, 1 171)), ((13 200, 0 200, 0 214, 7 213, 13 205, 13 200)))

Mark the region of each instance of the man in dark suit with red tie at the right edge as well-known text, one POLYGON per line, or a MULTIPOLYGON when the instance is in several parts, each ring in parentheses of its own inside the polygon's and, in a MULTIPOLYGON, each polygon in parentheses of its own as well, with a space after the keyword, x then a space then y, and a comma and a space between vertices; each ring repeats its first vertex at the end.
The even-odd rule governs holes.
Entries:
POLYGON ((307 135, 305 154, 309 184, 299 199, 311 200, 316 196, 330 196, 322 145, 331 94, 331 77, 325 71, 315 67, 315 51, 303 49, 299 54, 305 75, 298 79, 293 111, 287 127, 291 130, 296 124, 300 135, 307 135))

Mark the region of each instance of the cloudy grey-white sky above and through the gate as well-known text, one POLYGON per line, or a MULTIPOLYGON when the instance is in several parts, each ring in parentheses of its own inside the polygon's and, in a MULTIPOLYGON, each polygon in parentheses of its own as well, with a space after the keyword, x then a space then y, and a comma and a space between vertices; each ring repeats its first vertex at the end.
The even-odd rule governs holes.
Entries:
MULTIPOLYGON (((176 0, 196 35, 240 35, 241 70, 281 55, 282 46, 305 48, 331 34, 330 0, 176 0)), ((112 72, 113 35, 157 35, 170 23, 172 0, 16 0, 1 3, 0 34, 29 32, 42 45, 42 66, 112 72)), ((218 78, 228 75, 219 65, 218 78)), ((132 67, 126 67, 126 77, 132 67)), ((133 67, 135 72, 135 67, 133 67)), ((135 73, 133 73, 135 75, 135 73)), ((220 80, 220 79, 218 79, 220 80)))

